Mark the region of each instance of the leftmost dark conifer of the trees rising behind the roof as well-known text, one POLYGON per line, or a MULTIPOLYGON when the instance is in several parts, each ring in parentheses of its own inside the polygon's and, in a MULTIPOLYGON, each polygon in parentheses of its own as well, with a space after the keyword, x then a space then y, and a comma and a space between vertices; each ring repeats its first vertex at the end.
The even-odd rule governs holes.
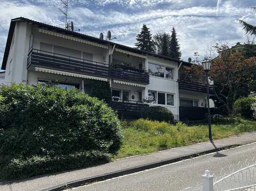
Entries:
POLYGON ((146 24, 143 24, 140 34, 137 34, 135 46, 140 50, 154 52, 152 34, 146 24))

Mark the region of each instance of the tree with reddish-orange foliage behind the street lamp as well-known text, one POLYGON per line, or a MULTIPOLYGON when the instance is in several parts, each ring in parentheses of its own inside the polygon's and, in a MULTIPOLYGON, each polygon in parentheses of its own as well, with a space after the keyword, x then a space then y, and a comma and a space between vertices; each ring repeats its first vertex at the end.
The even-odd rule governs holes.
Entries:
MULTIPOLYGON (((224 105, 227 113, 232 114, 240 90, 254 80, 256 57, 246 59, 243 53, 232 53, 225 45, 215 47, 217 52, 222 51, 222 56, 212 61, 210 79, 214 81, 213 92, 220 105, 224 105)), ((190 67, 186 74, 193 83, 205 81, 201 65, 190 67)))

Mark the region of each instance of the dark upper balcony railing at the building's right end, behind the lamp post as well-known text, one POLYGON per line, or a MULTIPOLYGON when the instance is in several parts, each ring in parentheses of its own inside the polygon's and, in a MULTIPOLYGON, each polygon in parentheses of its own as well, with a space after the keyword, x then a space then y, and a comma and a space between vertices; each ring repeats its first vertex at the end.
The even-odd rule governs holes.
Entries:
MULTIPOLYGON (((183 81, 183 80, 178 80, 178 83, 179 83, 179 90, 188 90, 188 91, 202 92, 202 93, 207 92, 206 85, 193 84, 193 83, 186 82, 186 81, 183 81)), ((211 90, 212 90, 212 88, 210 87, 210 93, 212 93, 211 90)))

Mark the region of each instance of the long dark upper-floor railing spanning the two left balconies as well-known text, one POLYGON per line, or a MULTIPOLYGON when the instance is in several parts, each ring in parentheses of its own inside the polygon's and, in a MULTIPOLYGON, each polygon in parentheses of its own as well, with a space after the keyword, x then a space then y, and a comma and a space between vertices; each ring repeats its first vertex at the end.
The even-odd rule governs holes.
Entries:
POLYGON ((120 79, 128 82, 149 84, 149 75, 145 72, 109 67, 108 64, 89 61, 58 53, 31 49, 27 58, 27 69, 31 65, 58 69, 68 72, 120 79))

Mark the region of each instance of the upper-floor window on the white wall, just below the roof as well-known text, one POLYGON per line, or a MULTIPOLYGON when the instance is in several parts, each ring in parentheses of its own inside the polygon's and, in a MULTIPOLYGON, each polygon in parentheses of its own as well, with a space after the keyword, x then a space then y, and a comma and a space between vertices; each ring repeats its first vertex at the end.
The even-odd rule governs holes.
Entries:
POLYGON ((173 79, 174 69, 170 67, 160 66, 149 63, 149 75, 173 79))

